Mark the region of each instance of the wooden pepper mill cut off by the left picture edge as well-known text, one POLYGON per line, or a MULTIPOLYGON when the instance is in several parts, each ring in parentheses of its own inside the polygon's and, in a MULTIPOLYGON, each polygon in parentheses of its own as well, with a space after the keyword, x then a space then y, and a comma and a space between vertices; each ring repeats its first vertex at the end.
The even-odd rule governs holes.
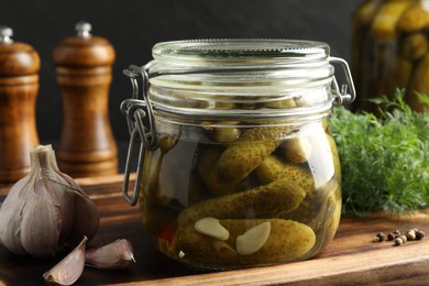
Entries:
POLYGON ((38 144, 35 103, 41 59, 34 48, 13 42, 0 26, 0 183, 30 172, 30 150, 38 144))

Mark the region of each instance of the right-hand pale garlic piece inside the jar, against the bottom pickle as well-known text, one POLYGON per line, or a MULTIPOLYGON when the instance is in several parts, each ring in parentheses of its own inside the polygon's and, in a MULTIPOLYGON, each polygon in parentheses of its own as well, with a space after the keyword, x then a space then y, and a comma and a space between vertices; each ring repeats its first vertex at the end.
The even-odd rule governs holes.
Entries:
POLYGON ((239 235, 235 241, 237 253, 240 255, 250 255, 261 250, 271 233, 271 223, 265 221, 257 224, 243 234, 239 235))

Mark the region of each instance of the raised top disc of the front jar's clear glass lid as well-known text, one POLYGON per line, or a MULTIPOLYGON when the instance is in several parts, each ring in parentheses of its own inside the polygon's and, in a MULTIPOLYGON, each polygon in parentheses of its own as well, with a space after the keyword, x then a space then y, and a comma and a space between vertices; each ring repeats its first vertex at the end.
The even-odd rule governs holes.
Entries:
POLYGON ((215 65, 290 66, 326 64, 330 47, 317 41, 284 38, 207 38, 161 42, 152 54, 158 64, 188 67, 215 65))

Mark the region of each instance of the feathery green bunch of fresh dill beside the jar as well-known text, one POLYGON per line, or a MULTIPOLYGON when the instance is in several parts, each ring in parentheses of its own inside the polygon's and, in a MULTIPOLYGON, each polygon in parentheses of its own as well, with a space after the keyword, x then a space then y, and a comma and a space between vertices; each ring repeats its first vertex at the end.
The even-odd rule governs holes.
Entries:
POLYGON ((373 101, 380 117, 336 107, 329 118, 341 162, 343 213, 429 206, 429 113, 411 110, 402 90, 392 100, 373 101))

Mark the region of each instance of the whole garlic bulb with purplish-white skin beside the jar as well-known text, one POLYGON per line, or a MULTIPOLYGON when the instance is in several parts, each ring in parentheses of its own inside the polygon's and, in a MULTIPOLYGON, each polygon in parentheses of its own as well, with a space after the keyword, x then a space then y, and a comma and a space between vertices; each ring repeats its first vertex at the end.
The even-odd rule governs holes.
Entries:
POLYGON ((10 189, 0 208, 0 242, 15 254, 53 256, 92 238, 99 226, 94 202, 61 173, 51 145, 30 152, 31 172, 10 189))

